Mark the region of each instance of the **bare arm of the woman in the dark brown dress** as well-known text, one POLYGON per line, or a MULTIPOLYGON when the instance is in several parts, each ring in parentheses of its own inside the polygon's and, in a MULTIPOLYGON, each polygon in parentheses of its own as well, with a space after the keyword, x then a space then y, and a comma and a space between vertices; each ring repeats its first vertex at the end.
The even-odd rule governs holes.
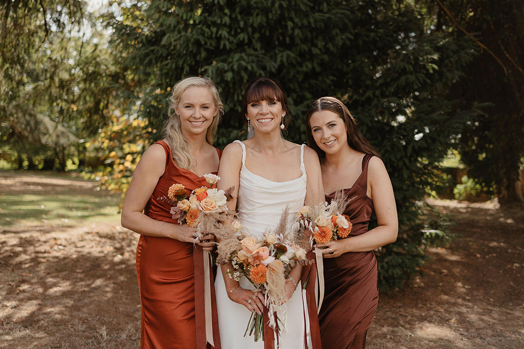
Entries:
POLYGON ((345 252, 366 252, 397 240, 398 218, 395 195, 384 163, 372 157, 368 164, 368 195, 373 200, 378 226, 356 237, 318 244, 327 246, 324 257, 337 257, 345 252), (330 251, 333 254, 329 254, 330 251))

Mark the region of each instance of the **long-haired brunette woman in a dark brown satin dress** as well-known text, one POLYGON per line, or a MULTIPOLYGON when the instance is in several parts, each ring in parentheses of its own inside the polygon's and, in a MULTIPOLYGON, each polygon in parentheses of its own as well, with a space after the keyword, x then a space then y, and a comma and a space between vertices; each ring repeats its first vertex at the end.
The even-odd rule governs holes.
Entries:
POLYGON ((346 239, 317 244, 326 247, 322 251, 325 295, 319 313, 322 346, 364 348, 378 304, 373 250, 397 239, 391 181, 384 163, 339 99, 317 99, 306 121, 308 145, 319 155, 324 193, 330 193, 326 201, 344 190, 350 200, 344 213, 353 224, 346 239), (378 226, 368 231, 373 210, 378 226))

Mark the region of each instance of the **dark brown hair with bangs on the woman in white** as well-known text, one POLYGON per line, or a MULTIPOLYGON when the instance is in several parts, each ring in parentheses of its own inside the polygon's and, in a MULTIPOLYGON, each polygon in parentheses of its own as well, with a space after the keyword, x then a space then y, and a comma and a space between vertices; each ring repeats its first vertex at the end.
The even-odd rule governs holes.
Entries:
POLYGON ((270 78, 259 77, 249 83, 242 97, 242 116, 245 117, 247 114, 247 106, 249 103, 255 102, 256 100, 276 100, 282 105, 282 110, 286 112, 286 118, 284 118, 284 126, 287 129, 289 125, 289 112, 288 97, 284 93, 282 87, 270 78))

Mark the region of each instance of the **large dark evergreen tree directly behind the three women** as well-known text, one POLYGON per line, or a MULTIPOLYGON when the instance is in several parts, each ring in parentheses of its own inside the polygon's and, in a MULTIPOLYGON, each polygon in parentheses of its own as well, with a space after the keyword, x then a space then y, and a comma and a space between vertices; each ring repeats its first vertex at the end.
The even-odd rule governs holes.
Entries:
MULTIPOLYGON (((340 97, 382 154, 399 210, 397 242, 379 252, 381 282, 399 286, 443 234, 420 220, 434 163, 471 112, 449 87, 471 59, 471 40, 430 30, 412 2, 154 1, 108 14, 126 74, 124 98, 159 125, 169 88, 206 75, 221 87, 226 115, 217 144, 243 126, 241 94, 257 76, 275 78, 292 110, 288 139, 305 140, 303 114, 318 97, 340 97)), ((129 110, 132 112, 132 110, 129 110)), ((155 136, 153 136, 155 137, 155 136)))

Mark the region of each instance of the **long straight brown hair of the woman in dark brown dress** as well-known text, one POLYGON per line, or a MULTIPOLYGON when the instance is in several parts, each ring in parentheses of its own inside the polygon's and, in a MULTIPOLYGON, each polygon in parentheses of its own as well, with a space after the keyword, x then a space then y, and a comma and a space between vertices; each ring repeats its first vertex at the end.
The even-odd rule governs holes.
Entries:
POLYGON ((344 103, 335 97, 321 97, 313 102, 311 107, 309 107, 308 112, 305 114, 305 122, 307 125, 305 132, 308 138, 308 146, 316 151, 321 160, 325 159, 326 154, 319 148, 313 138, 310 120, 311 116, 316 111, 322 110, 332 111, 344 121, 347 130, 347 144, 349 144, 351 148, 365 154, 380 157, 373 145, 369 144, 363 134, 358 131, 357 122, 344 103))

